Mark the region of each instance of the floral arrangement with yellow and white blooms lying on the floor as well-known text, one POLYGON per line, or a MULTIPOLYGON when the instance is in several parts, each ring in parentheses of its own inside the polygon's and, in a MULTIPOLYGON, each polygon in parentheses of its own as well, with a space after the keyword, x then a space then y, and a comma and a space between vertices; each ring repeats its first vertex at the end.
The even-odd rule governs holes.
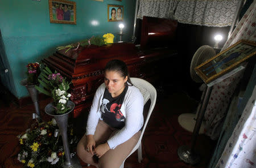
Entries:
MULTIPOLYGON (((23 135, 19 135, 20 152, 18 160, 24 163, 23 167, 61 167, 65 161, 64 147, 55 130, 58 127, 56 120, 47 123, 37 123, 23 135)), ((72 126, 68 126, 69 148, 75 151, 77 138, 73 136, 72 126)))

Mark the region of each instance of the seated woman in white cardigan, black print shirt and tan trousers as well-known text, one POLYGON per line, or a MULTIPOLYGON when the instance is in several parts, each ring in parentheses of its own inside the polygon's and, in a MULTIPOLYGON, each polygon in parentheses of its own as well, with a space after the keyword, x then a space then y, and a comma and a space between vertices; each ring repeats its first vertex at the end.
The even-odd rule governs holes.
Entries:
POLYGON ((131 83, 123 61, 108 62, 104 75, 105 82, 94 95, 77 154, 96 167, 118 168, 141 135, 143 96, 131 83))

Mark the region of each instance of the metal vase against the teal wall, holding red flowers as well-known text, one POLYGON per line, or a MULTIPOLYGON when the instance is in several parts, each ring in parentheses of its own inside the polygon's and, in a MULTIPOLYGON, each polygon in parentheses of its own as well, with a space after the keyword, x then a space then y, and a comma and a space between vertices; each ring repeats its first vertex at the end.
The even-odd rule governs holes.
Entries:
POLYGON ((36 115, 38 115, 36 118, 40 118, 40 110, 39 110, 39 102, 38 102, 38 90, 35 88, 36 84, 29 85, 27 83, 27 79, 23 79, 20 81, 20 84, 25 86, 27 88, 28 93, 30 93, 30 97, 34 103, 36 115))

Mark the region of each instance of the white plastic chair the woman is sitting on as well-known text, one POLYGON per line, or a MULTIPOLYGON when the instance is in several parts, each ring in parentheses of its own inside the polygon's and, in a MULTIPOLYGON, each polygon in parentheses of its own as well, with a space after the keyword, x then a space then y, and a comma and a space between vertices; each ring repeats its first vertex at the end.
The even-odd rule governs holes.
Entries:
MULTIPOLYGON (((141 94, 144 98, 144 105, 146 104, 146 102, 148 100, 151 101, 150 108, 148 110, 147 117, 146 117, 146 120, 145 120, 144 125, 143 125, 141 136, 139 137, 138 143, 135 145, 135 147, 133 148, 133 150, 131 150, 131 153, 129 154, 129 156, 130 156, 131 154, 133 154, 135 152, 135 150, 138 149, 138 162, 141 163, 141 161, 142 161, 141 140, 142 140, 142 136, 144 134, 144 131, 146 129, 148 120, 150 118, 150 115, 151 115, 151 113, 152 113, 152 111, 155 107, 156 90, 155 90, 155 87, 153 87, 153 85, 151 85, 150 83, 148 83, 148 81, 143 80, 143 79, 139 79, 139 78, 136 78, 136 77, 131 77, 131 82, 133 83, 133 85, 135 87, 137 87, 139 89, 139 91, 141 91, 141 94)), ((127 156, 127 157, 129 157, 129 156, 127 156)), ((119 168, 123 168, 123 166, 125 164, 125 160, 123 161, 122 165, 119 168)))

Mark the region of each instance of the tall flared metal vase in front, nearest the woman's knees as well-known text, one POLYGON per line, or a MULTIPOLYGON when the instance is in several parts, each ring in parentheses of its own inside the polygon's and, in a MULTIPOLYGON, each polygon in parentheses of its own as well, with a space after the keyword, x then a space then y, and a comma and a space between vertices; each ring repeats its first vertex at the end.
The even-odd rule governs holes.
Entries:
POLYGON ((67 113, 65 114, 55 114, 55 107, 53 106, 53 103, 48 104, 44 111, 46 111, 46 114, 53 116, 57 122, 57 125, 59 126, 60 135, 63 140, 63 146, 65 151, 65 162, 63 164, 63 167, 81 167, 79 160, 77 160, 77 158, 75 157, 71 158, 69 152, 67 136, 68 114, 73 111, 73 109, 75 108, 75 104, 72 101, 68 101, 67 106, 70 110, 67 111, 67 113))

